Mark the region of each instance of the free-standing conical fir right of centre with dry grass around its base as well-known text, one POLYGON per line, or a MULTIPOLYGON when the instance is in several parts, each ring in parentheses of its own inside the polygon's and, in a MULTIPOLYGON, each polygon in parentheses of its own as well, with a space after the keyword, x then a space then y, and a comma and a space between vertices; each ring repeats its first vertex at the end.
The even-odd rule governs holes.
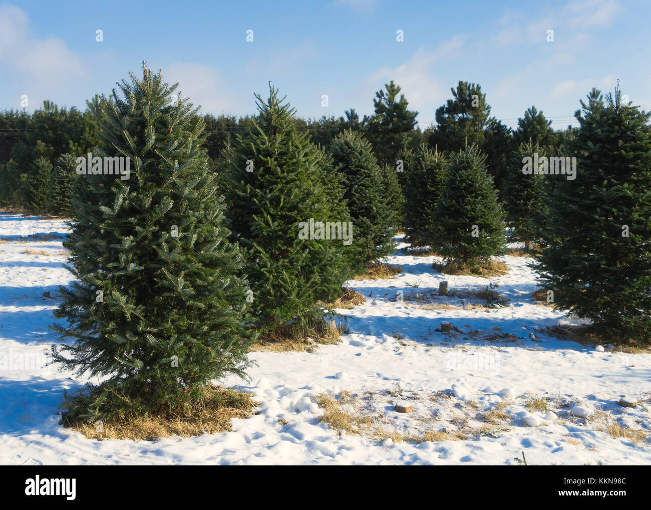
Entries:
POLYGON ((474 146, 452 154, 435 226, 424 240, 446 260, 471 267, 504 251, 503 210, 485 159, 474 146))

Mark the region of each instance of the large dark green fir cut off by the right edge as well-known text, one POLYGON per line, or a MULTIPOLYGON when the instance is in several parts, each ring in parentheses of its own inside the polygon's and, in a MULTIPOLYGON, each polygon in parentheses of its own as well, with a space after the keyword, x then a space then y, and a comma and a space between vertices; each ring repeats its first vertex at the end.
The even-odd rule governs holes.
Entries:
POLYGON ((577 177, 557 184, 535 268, 555 304, 596 333, 651 341, 651 132, 649 113, 603 104, 593 89, 575 147, 577 177))

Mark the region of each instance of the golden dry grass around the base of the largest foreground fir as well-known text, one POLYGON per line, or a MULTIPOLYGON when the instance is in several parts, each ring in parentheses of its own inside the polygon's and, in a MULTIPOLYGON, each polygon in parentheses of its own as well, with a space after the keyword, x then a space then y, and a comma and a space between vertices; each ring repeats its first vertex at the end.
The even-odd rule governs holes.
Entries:
POLYGON ((124 416, 102 422, 102 431, 98 424, 90 424, 81 419, 66 423, 66 427, 81 432, 89 439, 132 439, 134 441, 153 441, 169 436, 200 436, 229 432, 231 418, 246 418, 251 415, 258 402, 251 399, 249 393, 207 386, 204 398, 192 403, 189 408, 180 407, 171 411, 159 412, 148 416, 124 416))

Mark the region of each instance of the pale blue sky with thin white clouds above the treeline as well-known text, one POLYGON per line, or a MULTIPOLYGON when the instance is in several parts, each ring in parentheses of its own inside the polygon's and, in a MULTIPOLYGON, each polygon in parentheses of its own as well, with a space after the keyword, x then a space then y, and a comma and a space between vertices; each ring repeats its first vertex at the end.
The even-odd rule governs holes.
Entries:
POLYGON ((254 113, 269 80, 301 117, 363 115, 394 79, 425 128, 464 79, 510 126, 535 105, 563 128, 616 79, 651 110, 650 21, 648 0, 0 3, 0 109, 85 107, 146 59, 215 115, 254 113))

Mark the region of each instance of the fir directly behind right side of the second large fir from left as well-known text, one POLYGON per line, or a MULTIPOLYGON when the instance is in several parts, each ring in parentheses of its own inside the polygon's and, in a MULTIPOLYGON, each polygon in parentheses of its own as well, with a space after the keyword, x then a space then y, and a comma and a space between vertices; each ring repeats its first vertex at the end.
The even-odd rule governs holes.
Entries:
POLYGON ((359 266, 376 263, 394 249, 394 212, 383 199, 381 171, 370 143, 358 132, 345 131, 332 141, 329 154, 342 177, 353 222, 351 261, 359 266))

